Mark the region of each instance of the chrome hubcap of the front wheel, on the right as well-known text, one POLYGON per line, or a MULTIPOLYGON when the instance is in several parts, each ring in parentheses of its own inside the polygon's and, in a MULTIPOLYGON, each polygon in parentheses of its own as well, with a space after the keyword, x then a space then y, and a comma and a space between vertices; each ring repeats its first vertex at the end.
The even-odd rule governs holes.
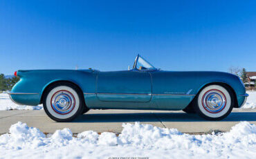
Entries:
POLYGON ((203 95, 202 104, 209 113, 219 113, 226 106, 226 96, 221 91, 212 89, 203 95))

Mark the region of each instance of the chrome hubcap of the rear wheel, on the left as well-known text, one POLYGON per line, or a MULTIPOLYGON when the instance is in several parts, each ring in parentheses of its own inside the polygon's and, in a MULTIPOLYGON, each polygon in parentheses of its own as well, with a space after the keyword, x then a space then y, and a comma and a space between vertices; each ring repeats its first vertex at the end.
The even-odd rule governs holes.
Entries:
POLYGON ((68 114, 75 107, 75 97, 69 91, 57 91, 51 98, 51 106, 56 113, 68 114))

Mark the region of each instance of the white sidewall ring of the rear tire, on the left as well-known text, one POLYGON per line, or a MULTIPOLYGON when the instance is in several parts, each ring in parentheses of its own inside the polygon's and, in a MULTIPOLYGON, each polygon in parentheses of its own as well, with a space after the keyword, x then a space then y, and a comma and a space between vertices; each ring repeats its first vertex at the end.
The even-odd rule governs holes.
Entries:
POLYGON ((53 115, 53 117, 58 118, 58 119, 68 119, 68 118, 73 117, 73 115, 75 115, 75 113, 77 113, 79 106, 80 106, 80 98, 79 98, 77 92, 69 86, 57 86, 57 87, 53 88, 48 93, 48 95, 46 97, 46 108, 48 110, 48 113, 50 113, 51 115, 53 115), (73 94, 73 96, 75 98, 75 106, 74 106, 73 111, 71 111, 68 114, 64 114, 64 115, 56 113, 51 106, 51 97, 54 95, 54 93, 56 93, 57 91, 60 91, 60 90, 69 91, 70 93, 73 94))

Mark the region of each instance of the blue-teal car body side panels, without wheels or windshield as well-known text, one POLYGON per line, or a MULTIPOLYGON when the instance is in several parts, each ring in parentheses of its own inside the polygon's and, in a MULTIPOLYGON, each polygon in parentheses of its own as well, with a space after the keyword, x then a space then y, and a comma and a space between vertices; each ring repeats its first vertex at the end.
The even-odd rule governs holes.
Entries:
POLYGON ((246 90, 239 77, 214 71, 18 71, 21 77, 10 96, 18 104, 42 103, 44 91, 55 82, 76 84, 89 109, 184 109, 204 86, 225 84, 235 94, 235 107, 244 103, 246 90))

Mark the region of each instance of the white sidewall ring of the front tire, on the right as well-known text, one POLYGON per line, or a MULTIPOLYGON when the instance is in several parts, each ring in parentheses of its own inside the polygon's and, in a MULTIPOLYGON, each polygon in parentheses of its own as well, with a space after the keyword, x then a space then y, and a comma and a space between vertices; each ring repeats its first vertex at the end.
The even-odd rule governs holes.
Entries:
POLYGON ((228 93, 228 91, 226 90, 226 88, 224 88, 223 86, 219 86, 219 85, 210 85, 207 86, 205 88, 203 88, 203 90, 200 92, 199 97, 197 98, 197 104, 199 106, 199 111, 201 111, 201 113, 203 113, 203 115, 208 116, 209 118, 220 118, 223 115, 226 115, 226 113, 228 113, 228 111, 230 110, 230 106, 231 106, 231 97, 230 97, 230 93, 228 93), (219 113, 210 113, 208 111, 206 111, 203 108, 203 104, 201 102, 203 95, 212 89, 217 89, 219 91, 221 91, 225 96, 226 96, 226 106, 225 108, 220 111, 219 113))

